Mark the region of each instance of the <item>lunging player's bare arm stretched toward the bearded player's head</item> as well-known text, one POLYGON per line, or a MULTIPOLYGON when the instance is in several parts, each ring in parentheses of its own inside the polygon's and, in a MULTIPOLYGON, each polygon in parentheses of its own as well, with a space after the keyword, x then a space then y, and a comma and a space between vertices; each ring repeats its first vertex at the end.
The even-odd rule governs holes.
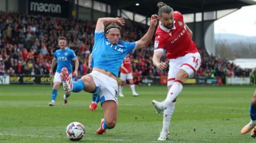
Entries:
POLYGON ((148 46, 155 32, 155 27, 158 21, 157 18, 158 16, 156 14, 151 15, 150 26, 148 28, 148 31, 140 40, 137 41, 136 49, 140 49, 148 46))

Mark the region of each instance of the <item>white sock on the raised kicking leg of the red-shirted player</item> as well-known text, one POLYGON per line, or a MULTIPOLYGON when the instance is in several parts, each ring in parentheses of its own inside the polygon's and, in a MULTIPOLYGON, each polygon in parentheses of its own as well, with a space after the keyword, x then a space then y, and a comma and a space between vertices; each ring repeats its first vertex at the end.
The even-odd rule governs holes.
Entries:
POLYGON ((182 88, 183 88, 183 85, 179 81, 174 81, 171 89, 167 93, 167 97, 164 100, 164 104, 165 105, 171 104, 173 100, 178 97, 182 88))

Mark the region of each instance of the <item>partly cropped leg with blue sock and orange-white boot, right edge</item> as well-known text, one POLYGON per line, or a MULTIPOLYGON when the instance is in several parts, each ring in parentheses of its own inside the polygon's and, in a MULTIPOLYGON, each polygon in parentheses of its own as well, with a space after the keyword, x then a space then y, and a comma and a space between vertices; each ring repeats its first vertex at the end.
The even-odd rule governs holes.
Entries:
POLYGON ((256 90, 254 91, 254 95, 252 97, 249 113, 250 113, 251 121, 248 124, 246 124, 244 128, 241 130, 242 134, 246 134, 250 132, 256 125, 256 90))

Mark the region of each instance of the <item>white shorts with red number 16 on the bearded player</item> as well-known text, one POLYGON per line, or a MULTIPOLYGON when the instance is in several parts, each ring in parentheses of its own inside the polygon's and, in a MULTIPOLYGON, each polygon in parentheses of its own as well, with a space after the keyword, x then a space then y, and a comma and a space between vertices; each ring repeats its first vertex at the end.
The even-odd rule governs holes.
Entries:
POLYGON ((200 66, 201 56, 198 52, 170 59, 167 86, 173 84, 179 69, 185 70, 188 73, 188 78, 192 78, 200 66))

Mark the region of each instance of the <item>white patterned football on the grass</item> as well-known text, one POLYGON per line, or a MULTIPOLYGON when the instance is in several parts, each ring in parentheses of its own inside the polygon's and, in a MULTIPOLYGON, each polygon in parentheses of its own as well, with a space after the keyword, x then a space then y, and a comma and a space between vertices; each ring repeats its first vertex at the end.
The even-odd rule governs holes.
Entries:
POLYGON ((66 128, 67 137, 69 140, 81 140, 85 134, 84 125, 79 122, 72 122, 66 128))

